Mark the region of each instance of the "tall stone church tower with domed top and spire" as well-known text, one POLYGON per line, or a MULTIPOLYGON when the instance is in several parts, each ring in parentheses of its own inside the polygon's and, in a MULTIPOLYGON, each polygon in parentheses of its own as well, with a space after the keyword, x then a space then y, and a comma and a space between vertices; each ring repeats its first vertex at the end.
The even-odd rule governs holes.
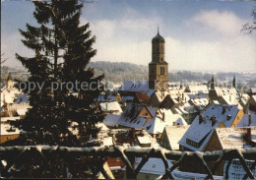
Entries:
POLYGON ((168 63, 165 62, 164 38, 160 31, 152 39, 152 62, 149 64, 149 88, 151 90, 168 89, 168 63))

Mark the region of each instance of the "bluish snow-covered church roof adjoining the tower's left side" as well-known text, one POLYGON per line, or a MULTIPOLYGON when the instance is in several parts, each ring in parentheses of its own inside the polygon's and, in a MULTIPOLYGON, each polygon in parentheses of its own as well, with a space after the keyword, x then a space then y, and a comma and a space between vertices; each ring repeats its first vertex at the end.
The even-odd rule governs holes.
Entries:
POLYGON ((125 81, 122 86, 117 89, 118 91, 140 91, 147 92, 149 89, 148 82, 146 81, 125 81))

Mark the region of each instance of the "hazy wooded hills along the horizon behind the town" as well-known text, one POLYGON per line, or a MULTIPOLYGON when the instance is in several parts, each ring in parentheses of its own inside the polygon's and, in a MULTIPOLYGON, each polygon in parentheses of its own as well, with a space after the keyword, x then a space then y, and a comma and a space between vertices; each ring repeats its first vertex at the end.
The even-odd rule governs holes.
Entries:
MULTIPOLYGON (((88 67, 95 69, 96 75, 105 74, 105 81, 113 83, 120 83, 123 81, 148 81, 149 80, 149 67, 144 65, 136 65, 126 62, 109 62, 109 61, 96 61, 91 62, 88 67)), ((12 72, 14 79, 26 80, 28 73, 25 70, 11 68, 7 66, 1 67, 1 82, 3 82, 8 75, 12 72)), ((235 75, 236 82, 239 84, 256 85, 256 74, 253 73, 234 73, 234 72, 219 72, 215 74, 215 79, 230 82, 235 75)), ((208 82, 212 78, 211 73, 192 72, 192 71, 175 71, 169 72, 169 82, 208 82)))

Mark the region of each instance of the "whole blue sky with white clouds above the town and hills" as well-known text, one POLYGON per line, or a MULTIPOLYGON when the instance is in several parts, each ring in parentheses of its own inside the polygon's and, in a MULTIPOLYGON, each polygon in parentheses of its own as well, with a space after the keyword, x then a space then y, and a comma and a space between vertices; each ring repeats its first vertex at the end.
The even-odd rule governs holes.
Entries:
MULTIPOLYGON (((93 61, 148 65, 151 39, 158 26, 165 38, 165 60, 171 70, 256 71, 256 31, 241 32, 252 21, 252 1, 95 0, 86 3, 81 23, 96 34, 93 61)), ((6 65, 21 66, 16 52, 31 56, 18 29, 36 26, 32 2, 2 2, 1 50, 6 65)))

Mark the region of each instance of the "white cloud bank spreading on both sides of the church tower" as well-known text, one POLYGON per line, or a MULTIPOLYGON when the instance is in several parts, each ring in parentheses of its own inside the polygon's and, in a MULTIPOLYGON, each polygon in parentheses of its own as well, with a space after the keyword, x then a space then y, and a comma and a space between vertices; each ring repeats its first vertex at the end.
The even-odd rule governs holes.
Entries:
MULTIPOLYGON (((240 32, 244 23, 245 20, 227 11, 195 14, 186 24, 196 32, 193 36, 186 39, 164 36, 169 69, 255 71, 256 43, 253 36, 240 32)), ((126 9, 116 19, 96 20, 91 25, 96 34, 94 60, 144 65, 152 59, 151 39, 157 27, 166 29, 160 17, 147 17, 132 9, 126 9)))

